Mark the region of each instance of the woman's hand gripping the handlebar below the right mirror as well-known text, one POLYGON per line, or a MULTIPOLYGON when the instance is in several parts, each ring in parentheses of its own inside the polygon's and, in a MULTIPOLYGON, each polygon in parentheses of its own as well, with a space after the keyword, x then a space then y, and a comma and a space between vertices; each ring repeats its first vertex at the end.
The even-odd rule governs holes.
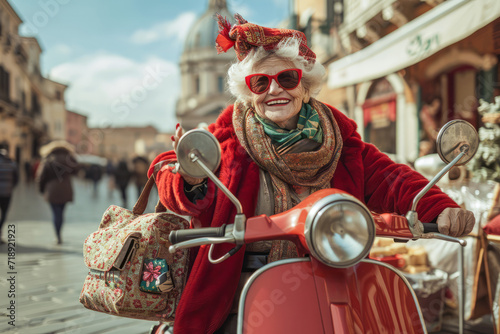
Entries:
POLYGON ((461 237, 469 234, 476 219, 471 211, 462 208, 446 208, 437 219, 439 232, 452 237, 461 237))

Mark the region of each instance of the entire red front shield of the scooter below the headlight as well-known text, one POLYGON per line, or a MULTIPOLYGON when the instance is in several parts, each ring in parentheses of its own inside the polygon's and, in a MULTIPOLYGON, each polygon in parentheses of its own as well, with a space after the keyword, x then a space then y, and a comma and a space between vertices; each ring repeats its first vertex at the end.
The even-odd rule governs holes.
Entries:
POLYGON ((425 333, 415 293, 399 271, 363 260, 351 268, 314 258, 266 265, 240 297, 238 333, 425 333))

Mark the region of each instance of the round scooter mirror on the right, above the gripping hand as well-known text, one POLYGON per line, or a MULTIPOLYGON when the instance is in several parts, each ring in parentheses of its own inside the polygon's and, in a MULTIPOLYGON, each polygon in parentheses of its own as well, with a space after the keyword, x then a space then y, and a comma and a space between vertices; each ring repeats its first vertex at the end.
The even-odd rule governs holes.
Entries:
POLYGON ((436 145, 439 157, 447 164, 465 151, 465 155, 456 164, 456 166, 461 166, 469 162, 476 154, 479 136, 469 122, 457 119, 449 121, 441 128, 436 145))

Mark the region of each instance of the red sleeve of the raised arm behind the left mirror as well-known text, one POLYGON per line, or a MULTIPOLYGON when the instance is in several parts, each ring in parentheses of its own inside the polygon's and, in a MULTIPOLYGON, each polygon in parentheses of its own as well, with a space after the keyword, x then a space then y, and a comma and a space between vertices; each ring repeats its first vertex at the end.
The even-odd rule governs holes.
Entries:
POLYGON ((196 204, 192 203, 184 193, 184 179, 180 174, 172 173, 172 165, 177 160, 174 151, 168 151, 158 155, 151 166, 149 167, 148 176, 150 176, 157 163, 167 161, 170 164, 165 164, 156 174, 156 186, 160 201, 169 210, 185 215, 198 216, 205 211, 213 203, 215 185, 212 181, 207 182, 207 194, 201 200, 197 200, 196 204))

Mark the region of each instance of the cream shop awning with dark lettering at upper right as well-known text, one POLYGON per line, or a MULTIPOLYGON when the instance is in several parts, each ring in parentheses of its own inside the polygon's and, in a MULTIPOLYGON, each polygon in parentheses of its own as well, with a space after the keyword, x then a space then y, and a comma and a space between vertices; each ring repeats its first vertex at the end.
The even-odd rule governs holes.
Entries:
POLYGON ((499 0, 448 0, 330 64, 328 87, 369 81, 418 63, 500 17, 499 0))

